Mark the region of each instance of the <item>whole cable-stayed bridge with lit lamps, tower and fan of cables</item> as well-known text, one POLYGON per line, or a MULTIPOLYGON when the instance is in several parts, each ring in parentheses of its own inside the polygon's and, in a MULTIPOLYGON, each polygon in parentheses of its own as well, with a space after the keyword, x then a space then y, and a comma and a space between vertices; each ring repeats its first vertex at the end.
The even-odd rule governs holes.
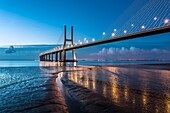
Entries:
MULTIPOLYGON (((55 62, 75 62, 75 49, 96 46, 111 42, 118 42, 134 38, 142 38, 151 35, 170 32, 170 1, 151 0, 143 6, 131 19, 129 19, 120 29, 113 28, 110 37, 92 41, 84 39, 77 43, 73 41, 73 27, 71 27, 71 38, 67 39, 66 26, 64 27, 64 45, 40 54, 40 61, 55 62), (71 42, 70 45, 67 42, 71 42), (66 58, 66 51, 72 51, 73 59, 66 58)), ((106 35, 103 32, 102 35, 106 35)))

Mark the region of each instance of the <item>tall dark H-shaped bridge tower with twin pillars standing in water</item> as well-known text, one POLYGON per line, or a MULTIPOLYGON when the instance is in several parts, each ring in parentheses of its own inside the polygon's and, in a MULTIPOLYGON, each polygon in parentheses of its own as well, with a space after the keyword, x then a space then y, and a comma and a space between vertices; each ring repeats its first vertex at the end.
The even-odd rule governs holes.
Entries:
POLYGON ((66 25, 64 25, 64 46, 63 46, 63 52, 62 52, 62 62, 63 65, 66 66, 66 62, 77 62, 76 59, 76 54, 74 49, 72 49, 72 59, 68 60, 66 58, 66 46, 67 46, 67 42, 71 42, 71 47, 74 47, 74 42, 73 42, 73 26, 71 26, 71 39, 67 38, 67 29, 66 29, 66 25))

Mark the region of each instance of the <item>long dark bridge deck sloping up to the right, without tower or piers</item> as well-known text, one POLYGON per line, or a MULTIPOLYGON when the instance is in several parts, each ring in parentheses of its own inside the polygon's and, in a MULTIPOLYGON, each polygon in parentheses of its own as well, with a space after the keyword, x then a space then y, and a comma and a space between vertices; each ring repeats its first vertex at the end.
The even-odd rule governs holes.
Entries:
MULTIPOLYGON (((136 32, 136 33, 127 34, 127 35, 123 35, 123 36, 118 36, 118 37, 114 37, 114 38, 108 38, 105 40, 90 42, 90 43, 86 43, 86 44, 82 44, 82 45, 76 45, 74 47, 66 48, 65 51, 69 51, 72 49, 84 48, 84 47, 90 47, 90 46, 95 46, 95 45, 100 45, 100 44, 106 44, 106 43, 111 43, 111 42, 118 42, 118 41, 123 41, 123 40, 128 40, 128 39, 135 39, 135 38, 151 36, 151 35, 156 35, 156 34, 168 33, 168 32, 170 32, 170 25, 159 27, 159 28, 153 28, 150 30, 144 30, 141 32, 136 32)), ((52 54, 52 53, 56 53, 56 52, 62 52, 62 51, 63 51, 62 49, 54 50, 54 51, 42 53, 42 54, 40 54, 40 56, 52 54)))

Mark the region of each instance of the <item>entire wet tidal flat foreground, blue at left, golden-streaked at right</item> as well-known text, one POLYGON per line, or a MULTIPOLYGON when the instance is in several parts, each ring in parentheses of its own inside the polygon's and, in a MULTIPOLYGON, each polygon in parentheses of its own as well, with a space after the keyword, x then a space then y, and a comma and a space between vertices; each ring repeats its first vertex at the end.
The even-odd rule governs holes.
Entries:
POLYGON ((0 68, 0 112, 169 113, 169 67, 0 68))

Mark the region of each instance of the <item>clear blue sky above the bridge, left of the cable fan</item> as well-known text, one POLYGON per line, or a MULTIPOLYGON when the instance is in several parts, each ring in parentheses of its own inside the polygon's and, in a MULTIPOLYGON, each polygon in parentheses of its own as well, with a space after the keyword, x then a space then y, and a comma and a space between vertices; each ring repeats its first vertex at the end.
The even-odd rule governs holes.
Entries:
MULTIPOLYGON (((141 0, 138 9, 147 0, 141 0)), ((0 0, 1 45, 57 43, 64 24, 75 26, 75 40, 99 38, 134 0, 0 0)), ((129 10, 123 17, 133 14, 129 10)), ((126 21, 126 20, 125 20, 126 21)), ((59 40, 62 43, 62 39, 59 40)))

